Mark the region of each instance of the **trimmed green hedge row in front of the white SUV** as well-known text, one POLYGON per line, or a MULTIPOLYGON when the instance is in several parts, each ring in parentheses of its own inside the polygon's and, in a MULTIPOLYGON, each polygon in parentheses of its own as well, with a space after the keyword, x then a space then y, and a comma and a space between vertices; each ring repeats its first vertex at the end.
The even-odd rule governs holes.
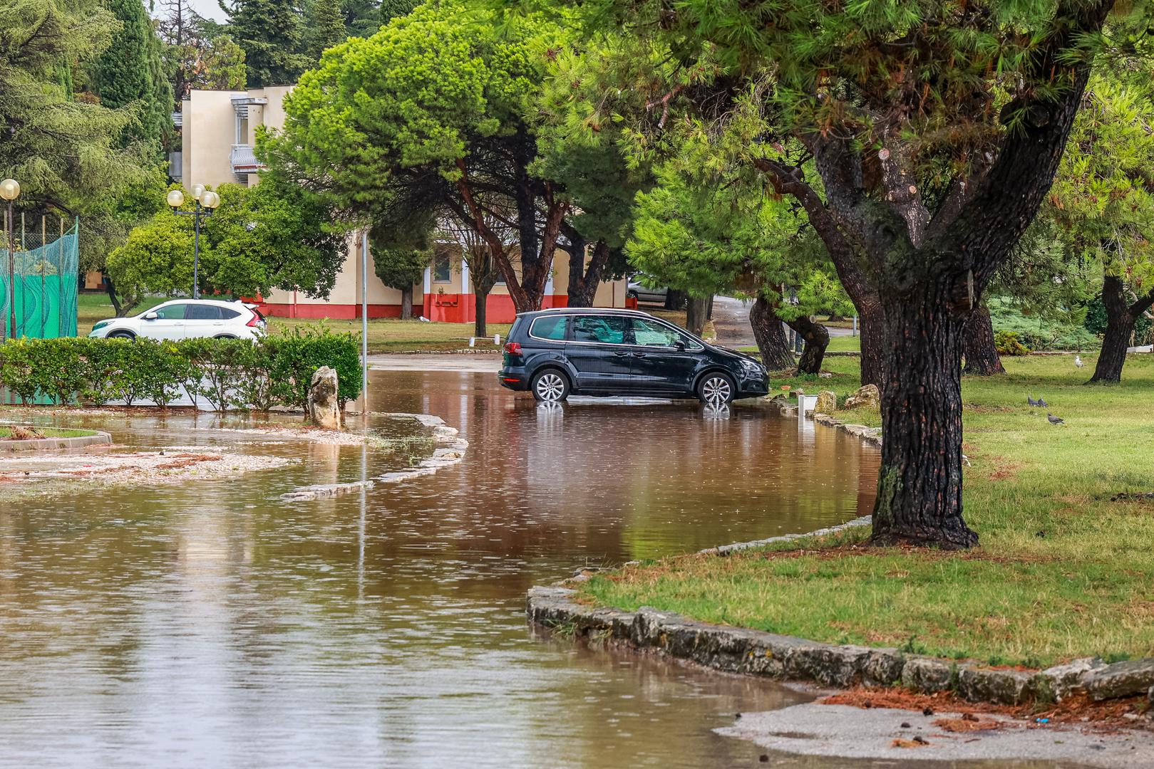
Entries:
POLYGON ((313 372, 337 371, 342 406, 361 390, 357 337, 324 327, 247 339, 16 339, 0 345, 0 386, 25 402, 150 401, 181 393, 215 410, 305 408, 313 372))

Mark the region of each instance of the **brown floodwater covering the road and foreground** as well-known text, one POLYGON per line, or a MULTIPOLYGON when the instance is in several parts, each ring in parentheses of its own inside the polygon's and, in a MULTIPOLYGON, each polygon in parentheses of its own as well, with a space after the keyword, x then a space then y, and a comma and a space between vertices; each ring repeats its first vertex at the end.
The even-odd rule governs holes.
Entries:
MULTIPOLYGON (((846 521, 871 504, 875 450, 741 405, 549 409, 488 374, 377 371, 370 399, 459 428, 465 460, 285 503, 407 455, 255 442, 301 461, 0 497, 0 767, 760 766, 711 730, 807 695, 540 638, 525 591, 846 521)), ((238 439, 189 415, 87 422, 142 446, 238 439)))

